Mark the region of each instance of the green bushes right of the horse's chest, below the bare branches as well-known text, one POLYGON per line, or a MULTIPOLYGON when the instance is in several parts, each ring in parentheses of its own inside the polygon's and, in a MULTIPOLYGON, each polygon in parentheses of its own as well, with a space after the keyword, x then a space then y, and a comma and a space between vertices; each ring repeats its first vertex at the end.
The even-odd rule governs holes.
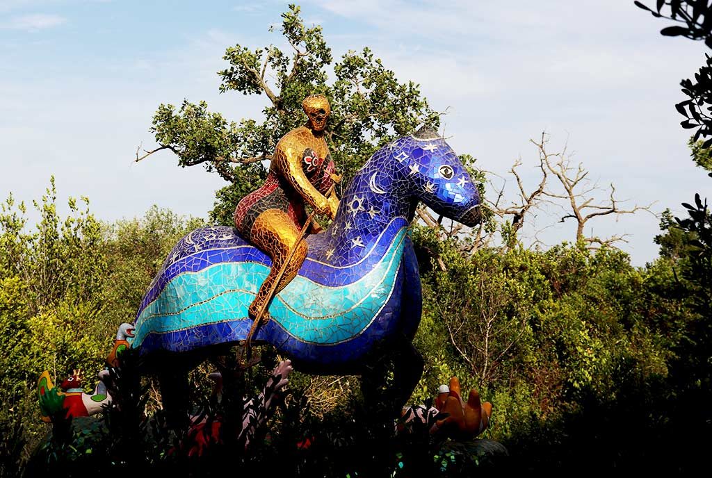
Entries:
POLYGON ((668 375, 688 312, 668 295, 674 275, 666 260, 636 269, 618 250, 565 244, 462 255, 456 241, 433 237, 414 233, 417 248, 443 262, 424 276, 417 400, 459 376, 464 389, 493 402, 488 436, 521 447, 514 437, 588 400, 616 400, 620 373, 642 383, 668 375))

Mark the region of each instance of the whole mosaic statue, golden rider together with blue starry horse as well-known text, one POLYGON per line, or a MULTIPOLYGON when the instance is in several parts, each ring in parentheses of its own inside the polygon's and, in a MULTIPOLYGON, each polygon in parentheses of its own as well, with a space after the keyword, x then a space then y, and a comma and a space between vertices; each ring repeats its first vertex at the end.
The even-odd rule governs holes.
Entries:
POLYGON ((312 373, 367 374, 391 353, 401 393, 387 401, 397 413, 422 373, 411 344, 422 299, 408 226, 420 201, 476 225, 480 198, 455 152, 422 127, 373 154, 338 201, 323 139, 330 106, 315 95, 303 107, 308 123, 278 142, 266 184, 236 208, 236 228, 185 236, 123 340, 155 364, 162 387, 185 383, 220 346, 271 344, 312 373), (333 218, 327 230, 318 233, 314 213, 305 218, 305 203, 333 218))

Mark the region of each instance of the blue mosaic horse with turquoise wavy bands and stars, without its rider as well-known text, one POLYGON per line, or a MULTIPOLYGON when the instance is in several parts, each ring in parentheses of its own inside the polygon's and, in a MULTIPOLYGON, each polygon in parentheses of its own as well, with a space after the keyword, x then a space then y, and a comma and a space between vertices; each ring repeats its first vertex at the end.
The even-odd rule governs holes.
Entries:
MULTIPOLYGON (((379 149, 360 169, 332 225, 307 239, 307 260, 253 340, 315 373, 361 373, 377 344, 409 344, 422 304, 407 232, 419 201, 465 225, 480 218, 476 186, 427 127, 379 149)), ((252 325, 248 306, 270 265, 234 228, 189 233, 143 298, 132 348, 177 358, 243 341, 252 325)))

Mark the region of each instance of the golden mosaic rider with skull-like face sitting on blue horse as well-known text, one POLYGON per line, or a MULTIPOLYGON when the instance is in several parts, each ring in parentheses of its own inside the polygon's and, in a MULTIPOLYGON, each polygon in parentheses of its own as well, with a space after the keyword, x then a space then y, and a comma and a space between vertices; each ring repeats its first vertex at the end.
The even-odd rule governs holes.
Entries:
MULTIPOLYGON (((242 198, 234 213, 235 227, 242 237, 272 259, 272 269, 248 309, 253 320, 272 298, 270 290, 281 268, 285 267, 285 271, 274 294, 297 275, 307 257, 308 245, 300 240, 307 218, 305 202, 332 219, 339 205, 331 188, 334 163, 324 139, 324 127, 331 112, 329 102, 323 95, 311 95, 302 102, 302 108, 308 122, 279 140, 265 184, 242 198), (326 197, 330 189, 332 192, 326 197), (286 264, 295 245, 296 250, 286 264)), ((319 230, 313 223, 311 232, 319 230)), ((268 320, 265 313, 261 322, 268 320)))

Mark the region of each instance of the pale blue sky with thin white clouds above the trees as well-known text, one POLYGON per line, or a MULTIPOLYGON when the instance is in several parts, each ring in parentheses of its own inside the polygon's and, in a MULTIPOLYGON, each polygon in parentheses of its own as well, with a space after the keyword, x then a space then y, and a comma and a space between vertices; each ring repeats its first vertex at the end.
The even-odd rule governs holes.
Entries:
MULTIPOLYGON (((648 3, 651 3, 649 1, 648 3)), ((659 214, 710 180, 679 126, 679 82, 710 53, 700 42, 667 38, 665 21, 627 0, 448 2, 303 0, 302 16, 323 27, 335 58, 365 46, 402 81, 419 83, 456 152, 475 156, 506 188, 520 158, 525 186, 538 183, 530 139, 548 134, 623 207, 659 214)), ((31 203, 51 175, 58 201, 88 196, 98 218, 142 216, 152 205, 206 217, 225 183, 172 153, 135 163, 161 103, 206 100, 228 119, 260 117, 264 95, 219 94, 224 51, 281 45, 282 1, 0 0, 0 198, 31 203)), ((602 191, 601 200, 607 198, 602 191)), ((66 212, 66 207, 61 206, 66 212)), ((575 224, 536 212, 525 243, 572 240, 575 224)), ((659 218, 641 212, 592 220, 586 233, 627 235, 634 265, 654 260, 659 218)))

